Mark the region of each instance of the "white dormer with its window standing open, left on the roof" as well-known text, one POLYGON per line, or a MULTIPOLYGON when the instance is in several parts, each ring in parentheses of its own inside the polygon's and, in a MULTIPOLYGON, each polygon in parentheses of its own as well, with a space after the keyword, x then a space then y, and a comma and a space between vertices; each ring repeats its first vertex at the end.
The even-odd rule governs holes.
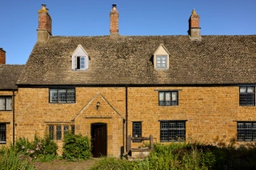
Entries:
POLYGON ((82 45, 74 50, 72 54, 72 69, 73 70, 86 70, 89 67, 89 56, 82 45))

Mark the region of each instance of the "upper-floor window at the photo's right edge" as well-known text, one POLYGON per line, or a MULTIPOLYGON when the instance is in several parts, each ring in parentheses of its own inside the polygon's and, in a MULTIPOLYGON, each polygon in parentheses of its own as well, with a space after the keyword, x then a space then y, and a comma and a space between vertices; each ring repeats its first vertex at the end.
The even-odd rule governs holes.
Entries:
POLYGON ((246 86, 240 87, 239 90, 239 104, 240 105, 255 105, 254 103, 254 87, 246 86))

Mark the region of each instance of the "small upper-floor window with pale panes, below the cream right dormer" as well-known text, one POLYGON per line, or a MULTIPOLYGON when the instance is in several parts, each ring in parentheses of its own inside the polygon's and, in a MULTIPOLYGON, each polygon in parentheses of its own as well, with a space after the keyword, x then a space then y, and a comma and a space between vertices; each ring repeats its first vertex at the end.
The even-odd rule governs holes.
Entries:
POLYGON ((158 98, 159 105, 178 105, 178 91, 160 91, 158 98))

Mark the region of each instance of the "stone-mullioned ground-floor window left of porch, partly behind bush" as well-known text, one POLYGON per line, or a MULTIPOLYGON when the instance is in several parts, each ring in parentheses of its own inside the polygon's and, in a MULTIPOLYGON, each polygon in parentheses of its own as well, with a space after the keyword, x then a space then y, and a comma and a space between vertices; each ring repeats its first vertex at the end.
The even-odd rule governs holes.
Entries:
POLYGON ((63 140, 69 130, 74 134, 74 125, 48 125, 48 130, 51 140, 63 140))

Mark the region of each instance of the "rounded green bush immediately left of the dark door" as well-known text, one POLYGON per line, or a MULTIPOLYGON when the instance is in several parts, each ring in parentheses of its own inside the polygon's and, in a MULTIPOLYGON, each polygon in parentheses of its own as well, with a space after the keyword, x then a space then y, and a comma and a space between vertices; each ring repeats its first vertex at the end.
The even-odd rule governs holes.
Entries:
POLYGON ((90 159, 90 140, 88 136, 68 132, 64 137, 62 157, 66 160, 90 159))

